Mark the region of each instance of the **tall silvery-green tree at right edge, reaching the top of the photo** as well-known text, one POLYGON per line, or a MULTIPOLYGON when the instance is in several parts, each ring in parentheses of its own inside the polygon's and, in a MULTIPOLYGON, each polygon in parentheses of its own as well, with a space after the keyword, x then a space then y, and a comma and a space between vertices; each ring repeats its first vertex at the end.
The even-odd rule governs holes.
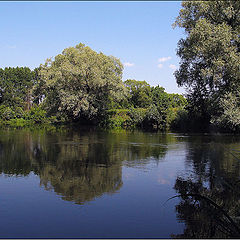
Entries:
POLYGON ((186 33, 175 76, 188 89, 191 112, 239 126, 240 1, 183 1, 174 25, 186 33))

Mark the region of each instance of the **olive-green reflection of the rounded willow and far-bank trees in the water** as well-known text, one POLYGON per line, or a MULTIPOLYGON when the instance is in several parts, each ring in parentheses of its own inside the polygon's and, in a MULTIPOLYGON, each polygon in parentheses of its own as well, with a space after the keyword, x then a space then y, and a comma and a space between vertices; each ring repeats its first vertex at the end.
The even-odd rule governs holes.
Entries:
POLYGON ((146 165, 166 154, 173 137, 91 131, 9 131, 0 137, 1 173, 34 172, 46 190, 83 204, 122 186, 122 165, 146 165))

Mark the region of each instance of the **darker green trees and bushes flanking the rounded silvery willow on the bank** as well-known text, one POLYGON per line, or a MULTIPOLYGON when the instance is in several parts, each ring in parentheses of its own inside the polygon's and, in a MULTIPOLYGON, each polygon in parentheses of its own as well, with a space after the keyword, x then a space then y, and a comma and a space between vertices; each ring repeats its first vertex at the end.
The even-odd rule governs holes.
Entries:
POLYGON ((40 68, 33 71, 28 67, 0 69, 0 128, 89 125, 100 129, 167 131, 187 104, 180 94, 168 94, 162 87, 129 79, 123 82, 125 93, 120 101, 106 99, 100 106, 102 112, 97 111, 91 116, 82 115, 80 110, 73 116, 72 109, 59 111, 61 104, 53 111, 53 106, 48 105, 47 90, 41 93, 42 89, 39 89, 44 84, 39 76, 40 68))

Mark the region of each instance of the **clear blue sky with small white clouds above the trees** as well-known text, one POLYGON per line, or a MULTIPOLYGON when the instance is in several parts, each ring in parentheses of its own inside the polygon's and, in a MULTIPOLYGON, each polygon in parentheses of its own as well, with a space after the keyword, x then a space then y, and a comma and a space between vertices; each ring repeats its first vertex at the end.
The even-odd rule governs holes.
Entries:
POLYGON ((0 2, 0 67, 33 69, 81 42, 119 58, 123 80, 184 93, 173 76, 184 37, 172 28, 180 9, 180 1, 0 2))

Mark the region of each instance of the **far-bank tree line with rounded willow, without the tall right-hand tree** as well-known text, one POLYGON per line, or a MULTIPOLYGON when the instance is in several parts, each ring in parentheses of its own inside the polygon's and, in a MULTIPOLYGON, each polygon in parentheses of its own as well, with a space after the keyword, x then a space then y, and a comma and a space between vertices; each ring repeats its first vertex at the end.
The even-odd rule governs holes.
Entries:
POLYGON ((122 81, 123 65, 84 44, 30 70, 0 69, 2 123, 94 124, 165 130, 186 99, 146 81, 122 81))

